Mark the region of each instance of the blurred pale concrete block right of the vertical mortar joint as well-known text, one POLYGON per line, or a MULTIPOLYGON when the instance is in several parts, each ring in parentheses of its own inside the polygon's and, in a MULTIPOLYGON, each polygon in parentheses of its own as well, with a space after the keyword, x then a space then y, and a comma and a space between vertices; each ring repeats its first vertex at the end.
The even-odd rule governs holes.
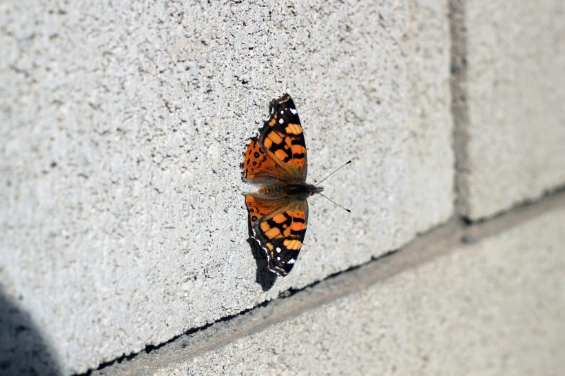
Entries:
POLYGON ((460 9, 468 112, 460 212, 475 220, 565 185, 565 3, 460 9))

